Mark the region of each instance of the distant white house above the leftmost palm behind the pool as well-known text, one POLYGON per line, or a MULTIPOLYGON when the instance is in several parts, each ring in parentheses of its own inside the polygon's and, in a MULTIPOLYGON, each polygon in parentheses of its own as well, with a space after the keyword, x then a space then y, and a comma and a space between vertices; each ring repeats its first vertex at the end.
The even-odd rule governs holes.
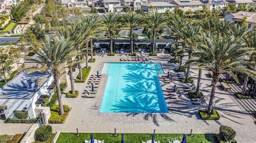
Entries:
POLYGON ((93 0, 92 8, 98 10, 99 13, 120 12, 124 6, 121 5, 119 0, 93 0))

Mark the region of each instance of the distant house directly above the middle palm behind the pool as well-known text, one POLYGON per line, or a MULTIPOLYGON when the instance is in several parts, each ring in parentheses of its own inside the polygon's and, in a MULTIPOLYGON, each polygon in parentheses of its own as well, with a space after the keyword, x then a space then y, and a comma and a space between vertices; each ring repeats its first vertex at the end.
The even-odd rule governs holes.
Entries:
POLYGON ((122 6, 127 7, 131 11, 136 11, 140 9, 141 4, 148 3, 147 0, 121 0, 122 6))

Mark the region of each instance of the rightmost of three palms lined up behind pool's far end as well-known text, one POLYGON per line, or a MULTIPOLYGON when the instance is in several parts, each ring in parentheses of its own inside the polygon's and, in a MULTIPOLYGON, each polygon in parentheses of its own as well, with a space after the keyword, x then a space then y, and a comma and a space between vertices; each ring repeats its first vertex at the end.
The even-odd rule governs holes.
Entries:
POLYGON ((149 15, 147 15, 145 19, 146 19, 145 27, 149 31, 152 31, 152 39, 153 39, 152 52, 155 53, 156 33, 166 28, 167 18, 163 14, 159 14, 157 11, 154 11, 149 15))

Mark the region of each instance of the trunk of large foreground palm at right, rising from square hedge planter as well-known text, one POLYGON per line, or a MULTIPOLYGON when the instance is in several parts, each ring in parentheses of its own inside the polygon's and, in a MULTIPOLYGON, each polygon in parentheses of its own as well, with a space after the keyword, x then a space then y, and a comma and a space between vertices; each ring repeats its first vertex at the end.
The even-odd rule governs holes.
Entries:
POLYGON ((212 114, 212 104, 213 104, 213 100, 214 100, 215 90, 216 90, 216 87, 217 87, 217 82, 220 78, 220 74, 214 72, 212 78, 213 78, 212 79, 212 92, 211 92, 211 96, 210 96, 209 105, 208 105, 208 108, 207 108, 208 115, 212 114))

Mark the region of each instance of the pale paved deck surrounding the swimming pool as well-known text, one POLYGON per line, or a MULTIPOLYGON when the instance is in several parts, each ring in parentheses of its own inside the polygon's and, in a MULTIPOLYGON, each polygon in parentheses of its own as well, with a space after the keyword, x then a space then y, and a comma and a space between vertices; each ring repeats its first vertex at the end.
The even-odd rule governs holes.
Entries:
MULTIPOLYGON (((120 61, 120 57, 127 57, 125 54, 116 54, 116 56, 107 56, 106 54, 97 54, 96 63, 89 63, 92 67, 90 74, 101 71, 105 62, 125 62, 120 61)), ((157 57, 150 57, 150 62, 161 63, 164 71, 171 71, 175 75, 173 69, 178 67, 178 63, 168 63, 169 54, 158 54, 157 57)), ((74 73, 74 77, 78 71, 74 73)), ((198 71, 191 68, 191 76, 194 77, 194 83, 197 82, 198 71)), ((76 128, 80 133, 113 133, 116 128, 117 133, 153 133, 156 129, 157 133, 218 133, 220 125, 227 125, 236 131, 236 140, 238 143, 255 143, 256 141, 256 119, 249 114, 244 108, 235 102, 235 98, 229 92, 225 92, 217 86, 213 108, 218 110, 221 118, 218 121, 204 121, 200 119, 198 110, 207 108, 207 105, 194 105, 189 100, 188 95, 182 92, 183 99, 173 99, 170 112, 167 114, 144 113, 144 114, 127 114, 127 113, 100 113, 100 109, 94 109, 94 105, 100 105, 104 94, 108 76, 103 76, 100 82, 96 98, 82 98, 82 92, 86 89, 85 83, 75 83, 75 89, 79 90, 78 98, 65 98, 63 95, 63 104, 67 104, 72 108, 66 122, 64 124, 51 124, 53 132, 60 130, 66 133, 75 133, 76 128)), ((175 81, 177 87, 184 86, 179 80, 175 81)), ((203 70, 201 80, 201 90, 206 95, 206 103, 208 104, 211 91, 211 78, 208 71, 203 70)), ((188 86, 188 85, 186 85, 188 86)), ((65 92, 71 89, 70 84, 65 92)), ((1 121, 2 124, 2 121, 1 121)), ((1 125, 0 124, 0 125, 1 125)), ((13 126, 15 124, 10 124, 13 126)), ((7 127, 7 126, 6 126, 7 127)), ((2 129, 4 134, 7 128, 2 129)), ((163 141, 160 141, 161 143, 163 141)))

